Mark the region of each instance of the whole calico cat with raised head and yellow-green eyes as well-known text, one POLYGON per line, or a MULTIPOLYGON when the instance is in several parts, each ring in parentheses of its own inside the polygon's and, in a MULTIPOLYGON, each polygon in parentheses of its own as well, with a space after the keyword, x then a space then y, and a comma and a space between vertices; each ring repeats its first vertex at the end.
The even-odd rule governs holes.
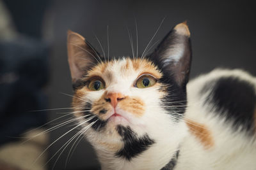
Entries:
POLYGON ((256 78, 188 83, 189 37, 181 23, 150 55, 109 58, 68 31, 74 115, 102 169, 256 169, 256 78))

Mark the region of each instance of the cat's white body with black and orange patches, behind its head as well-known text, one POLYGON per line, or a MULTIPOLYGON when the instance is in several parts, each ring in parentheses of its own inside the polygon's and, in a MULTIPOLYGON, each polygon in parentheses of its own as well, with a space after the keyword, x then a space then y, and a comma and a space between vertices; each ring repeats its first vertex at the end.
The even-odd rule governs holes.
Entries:
MULTIPOLYGON (((198 169, 256 169, 256 78, 216 69, 188 83, 186 124, 198 169)), ((186 168, 185 168, 186 169, 186 168)))

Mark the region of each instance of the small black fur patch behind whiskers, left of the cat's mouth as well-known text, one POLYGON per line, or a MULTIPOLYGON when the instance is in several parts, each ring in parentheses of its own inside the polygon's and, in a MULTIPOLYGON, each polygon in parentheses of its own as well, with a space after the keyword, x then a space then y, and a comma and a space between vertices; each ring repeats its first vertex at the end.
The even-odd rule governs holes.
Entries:
MULTIPOLYGON (((85 104, 85 108, 86 108, 86 110, 90 110, 92 108, 92 104, 86 103, 85 104)), ((92 128, 95 131, 100 131, 107 124, 107 121, 101 120, 99 117, 97 117, 97 115, 93 114, 90 111, 84 111, 84 115, 89 115, 88 117, 86 117, 86 119, 88 119, 88 118, 90 119, 90 120, 88 120, 89 123, 93 123, 94 122, 93 125, 92 125, 92 128)))

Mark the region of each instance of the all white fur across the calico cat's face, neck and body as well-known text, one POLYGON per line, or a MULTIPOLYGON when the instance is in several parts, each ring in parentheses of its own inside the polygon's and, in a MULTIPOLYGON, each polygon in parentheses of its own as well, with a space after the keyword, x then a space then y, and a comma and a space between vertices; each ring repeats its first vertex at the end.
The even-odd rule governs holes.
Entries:
MULTIPOLYGON (((108 150, 97 143, 118 143, 120 136, 111 125, 107 125, 104 132, 95 132, 89 129, 86 137, 92 143, 99 157, 102 169, 161 169, 172 158, 172 155, 180 150, 178 163, 175 170, 179 169, 256 169, 256 144, 255 138, 249 138, 243 132, 232 131, 231 124, 224 122, 223 118, 216 117, 216 113, 209 113, 207 107, 202 103, 205 97, 199 97, 200 89, 208 80, 214 80, 220 76, 236 76, 243 80, 252 82, 256 89, 256 80, 252 76, 240 70, 215 70, 204 76, 200 76, 188 84, 188 110, 186 118, 200 124, 205 124, 212 132, 214 146, 205 149, 193 134, 188 131, 186 123, 174 122, 172 115, 166 114, 158 99, 161 94, 156 88, 138 89, 133 87, 134 81, 140 75, 140 71, 125 74, 121 67, 125 60, 118 60, 109 67, 113 73, 113 81, 106 81, 108 92, 122 92, 125 96, 138 96, 145 103, 143 117, 136 118, 132 114, 126 114, 131 124, 129 126, 139 136, 147 132, 156 143, 137 157, 127 161, 115 157, 116 151, 108 150)), ((104 79, 104 75, 102 75, 104 79)), ((89 92, 84 100, 95 101, 100 99, 104 90, 89 92)), ((118 109, 118 106, 117 108, 118 109)), ((175 113, 173 113, 175 114, 175 113)), ((120 146, 122 147, 122 146, 120 146)))

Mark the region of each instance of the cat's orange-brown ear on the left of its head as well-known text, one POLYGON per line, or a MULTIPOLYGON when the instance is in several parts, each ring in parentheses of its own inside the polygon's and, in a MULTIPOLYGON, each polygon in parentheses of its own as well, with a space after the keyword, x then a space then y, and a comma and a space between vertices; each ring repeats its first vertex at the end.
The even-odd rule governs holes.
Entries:
POLYGON ((83 76, 84 71, 99 62, 99 53, 85 41, 85 38, 73 31, 67 32, 68 64, 72 83, 83 76))

